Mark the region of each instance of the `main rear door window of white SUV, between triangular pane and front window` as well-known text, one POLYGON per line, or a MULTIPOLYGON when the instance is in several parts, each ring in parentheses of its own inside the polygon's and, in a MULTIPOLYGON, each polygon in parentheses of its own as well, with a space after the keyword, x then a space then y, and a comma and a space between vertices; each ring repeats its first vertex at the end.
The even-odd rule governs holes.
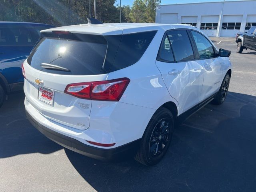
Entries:
POLYGON ((167 32, 175 61, 194 59, 194 53, 186 30, 172 30, 167 32))

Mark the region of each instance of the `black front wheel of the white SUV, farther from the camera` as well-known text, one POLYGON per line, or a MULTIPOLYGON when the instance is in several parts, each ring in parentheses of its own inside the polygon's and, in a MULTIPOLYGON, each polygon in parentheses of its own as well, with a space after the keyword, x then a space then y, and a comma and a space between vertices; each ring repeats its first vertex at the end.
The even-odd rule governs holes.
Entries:
POLYGON ((216 98, 214 98, 214 100, 212 101, 213 104, 220 105, 226 100, 226 97, 228 94, 229 82, 230 82, 230 76, 229 74, 226 74, 226 76, 222 81, 220 90, 218 91, 216 98))

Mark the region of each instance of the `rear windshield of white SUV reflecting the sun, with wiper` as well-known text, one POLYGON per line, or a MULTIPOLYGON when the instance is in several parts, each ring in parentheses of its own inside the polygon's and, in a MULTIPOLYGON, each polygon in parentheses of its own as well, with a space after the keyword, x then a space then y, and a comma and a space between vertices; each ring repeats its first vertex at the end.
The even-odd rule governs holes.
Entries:
POLYGON ((28 64, 53 74, 100 74, 107 50, 107 42, 100 35, 84 35, 80 38, 44 37, 36 45, 28 64), (42 63, 53 64, 69 71, 43 68, 42 63))

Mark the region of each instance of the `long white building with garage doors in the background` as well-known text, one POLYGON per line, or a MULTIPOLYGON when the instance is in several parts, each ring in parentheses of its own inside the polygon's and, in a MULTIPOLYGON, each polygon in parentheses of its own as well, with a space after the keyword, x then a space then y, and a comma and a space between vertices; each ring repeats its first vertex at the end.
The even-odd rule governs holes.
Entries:
POLYGON ((211 37, 235 37, 256 26, 256 0, 159 5, 156 23, 191 24, 211 37))

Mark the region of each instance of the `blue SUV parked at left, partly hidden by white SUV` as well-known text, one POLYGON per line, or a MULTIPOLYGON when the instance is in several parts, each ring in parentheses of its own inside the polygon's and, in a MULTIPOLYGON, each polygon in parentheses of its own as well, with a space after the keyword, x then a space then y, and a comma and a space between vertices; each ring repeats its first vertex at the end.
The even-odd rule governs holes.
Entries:
POLYGON ((40 38, 40 30, 54 26, 28 22, 0 22, 0 107, 6 96, 23 90, 21 65, 40 38))

